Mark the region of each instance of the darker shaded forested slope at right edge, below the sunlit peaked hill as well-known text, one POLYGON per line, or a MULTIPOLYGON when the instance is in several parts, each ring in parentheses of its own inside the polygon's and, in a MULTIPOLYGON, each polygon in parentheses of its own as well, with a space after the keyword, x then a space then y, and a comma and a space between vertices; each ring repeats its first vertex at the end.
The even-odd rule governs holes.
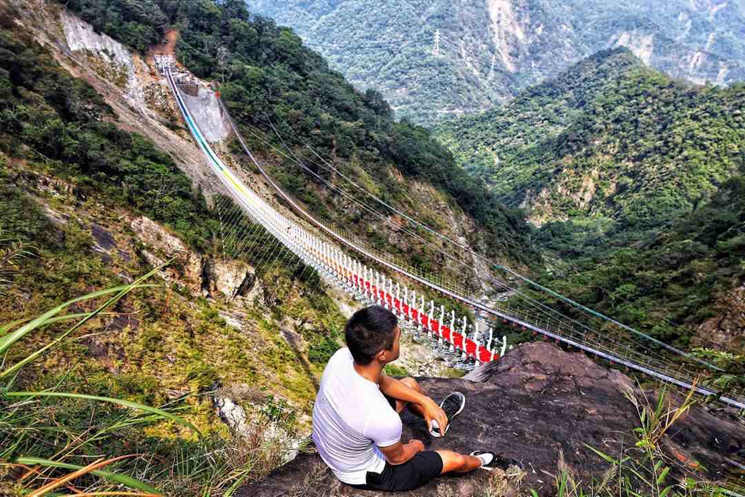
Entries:
POLYGON ((744 174, 664 229, 546 224, 536 242, 557 260, 539 280, 668 344, 745 353, 744 174))

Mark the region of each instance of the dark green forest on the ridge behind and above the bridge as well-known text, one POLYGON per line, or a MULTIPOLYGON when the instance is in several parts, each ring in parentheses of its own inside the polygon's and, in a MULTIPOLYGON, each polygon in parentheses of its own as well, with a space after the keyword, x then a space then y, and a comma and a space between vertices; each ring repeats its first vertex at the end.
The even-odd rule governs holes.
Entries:
MULTIPOLYGON (((427 130, 405 120, 394 121, 379 92, 356 91, 290 29, 253 16, 243 1, 71 0, 64 4, 95 28, 138 49, 156 41, 166 25, 174 25, 180 32, 178 60, 194 75, 221 82, 223 100, 246 127, 248 137, 258 131, 281 149, 282 142, 270 125, 274 123, 304 162, 314 162, 305 147, 311 145, 337 159, 345 174, 372 183, 384 200, 410 210, 412 195, 390 170, 397 168, 450 194, 474 218, 479 232, 474 236, 483 237, 489 255, 507 255, 521 264, 538 259, 519 209, 505 208, 480 180, 457 167, 427 130)), ((254 139, 251 147, 262 150, 266 145, 254 139)), ((331 178, 328 171, 318 169, 318 174, 331 178)), ((298 172, 289 160, 273 170, 311 209, 330 217, 317 194, 319 180, 298 172)), ((360 213, 340 209, 340 199, 336 200, 335 209, 345 210, 347 216, 340 221, 360 224, 360 213)))

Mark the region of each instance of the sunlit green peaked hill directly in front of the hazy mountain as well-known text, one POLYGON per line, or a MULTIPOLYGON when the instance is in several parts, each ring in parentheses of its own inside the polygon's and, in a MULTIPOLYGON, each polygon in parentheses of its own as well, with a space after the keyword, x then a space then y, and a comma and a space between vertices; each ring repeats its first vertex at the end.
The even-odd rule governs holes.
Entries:
POLYGON ((585 216, 654 226, 737 171, 744 105, 743 85, 679 83, 616 49, 437 136, 535 224, 585 216))

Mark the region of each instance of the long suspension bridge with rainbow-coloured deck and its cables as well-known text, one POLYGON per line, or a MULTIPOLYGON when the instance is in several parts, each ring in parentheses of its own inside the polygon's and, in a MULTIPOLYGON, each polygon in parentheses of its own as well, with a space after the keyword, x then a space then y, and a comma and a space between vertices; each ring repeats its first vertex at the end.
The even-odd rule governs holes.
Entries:
MULTIPOLYGON (((230 118, 228 110, 218 98, 222 112, 229 120, 241 148, 249 157, 253 167, 273 189, 273 194, 279 195, 289 209, 294 211, 293 216, 283 214, 282 209, 271 206, 255 189, 247 186, 248 180, 244 179, 240 168, 229 167, 226 161, 231 162, 231 160, 227 157, 223 159, 206 140, 199 124, 188 109, 183 90, 180 89, 177 76, 174 75, 175 66, 171 57, 156 57, 156 66, 167 80, 183 121, 206 158, 209 168, 206 172, 212 183, 210 189, 229 198, 232 204, 237 206, 233 212, 226 212, 221 216, 221 220, 224 220, 224 223, 221 221, 224 229, 232 230, 234 240, 246 240, 252 237, 255 239, 256 230, 263 230, 273 238, 271 247, 266 247, 264 250, 265 255, 297 258, 298 262, 312 268, 326 281, 331 282, 332 285, 356 300, 377 303, 389 308, 402 320, 403 327, 412 330, 418 336, 428 337, 429 343, 437 352, 456 358, 461 364, 483 364, 498 360, 501 355, 504 355, 506 343, 504 340, 500 341, 495 335, 498 334, 499 326, 509 325, 529 330, 533 332, 533 335, 542 335, 546 339, 557 341, 565 346, 580 349, 616 366, 627 367, 676 387, 693 388, 703 396, 715 396, 721 402, 735 408, 745 409, 745 395, 742 391, 737 390, 722 395, 715 387, 700 384, 700 378, 706 378, 708 373, 718 370, 714 365, 619 323, 617 320, 580 306, 504 265, 494 264, 459 241, 454 241, 437 230, 431 229, 413 216, 395 209, 384 200, 364 190, 364 187, 344 176, 341 171, 334 168, 331 162, 323 159, 309 145, 308 148, 320 161, 332 168, 355 189, 363 192, 367 197, 373 197, 375 203, 396 212, 411 226, 430 233, 443 241, 443 244, 450 244, 460 250, 460 253, 465 256, 459 258, 437 249, 455 264, 463 267, 464 278, 469 274, 477 278, 477 271, 473 266, 481 264, 492 268, 496 273, 509 276, 512 281, 521 282, 522 285, 512 285, 507 278, 489 276, 489 283, 502 291, 507 291, 510 298, 493 303, 486 302, 478 295, 478 291, 469 291, 468 288, 474 288, 474 285, 455 284, 441 276, 413 268, 401 259, 370 247, 366 241, 355 236, 349 229, 337 226, 317 213, 305 209, 283 191, 270 174, 267 174, 265 168, 247 147, 241 136, 241 130, 230 118), (254 229, 237 227, 236 219, 244 216, 255 225, 254 229), (539 300, 535 297, 536 292, 547 295, 551 299, 539 300), (458 304, 452 307, 469 309, 474 312, 477 319, 457 315, 453 308, 446 309, 445 304, 437 306, 434 296, 439 296, 440 302, 458 304), (564 305, 564 309, 570 308, 571 315, 566 310, 559 310, 557 301, 564 305), (479 326, 480 321, 485 324, 479 326)), ((329 189, 335 189, 357 205, 363 206, 367 211, 381 218, 387 218, 386 214, 375 207, 361 202, 358 196, 349 194, 348 191, 329 183, 328 180, 308 168, 287 146, 282 133, 273 124, 270 123, 270 125, 288 151, 285 153, 276 150, 277 152, 296 163, 308 174, 313 174, 317 180, 325 182, 329 189)), ((266 139, 262 139, 260 135, 256 134, 255 137, 273 148, 273 145, 266 139)), ((418 238, 419 241, 431 244, 416 231, 403 229, 403 232, 418 238)))

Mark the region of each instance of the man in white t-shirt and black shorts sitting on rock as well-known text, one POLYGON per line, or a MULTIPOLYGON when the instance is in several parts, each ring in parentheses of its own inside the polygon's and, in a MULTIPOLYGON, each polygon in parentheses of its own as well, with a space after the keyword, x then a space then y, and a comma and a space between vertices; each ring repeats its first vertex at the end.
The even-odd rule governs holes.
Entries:
POLYGON ((434 437, 463 410, 466 398, 451 393, 437 405, 413 378, 382 373, 399 358, 398 318, 381 306, 355 312, 344 327, 346 348, 337 350, 323 370, 313 408, 313 440, 323 461, 340 481, 367 490, 411 490, 446 472, 493 469, 491 452, 462 455, 425 451, 421 440, 402 443, 399 413, 408 406, 424 417, 434 437))

